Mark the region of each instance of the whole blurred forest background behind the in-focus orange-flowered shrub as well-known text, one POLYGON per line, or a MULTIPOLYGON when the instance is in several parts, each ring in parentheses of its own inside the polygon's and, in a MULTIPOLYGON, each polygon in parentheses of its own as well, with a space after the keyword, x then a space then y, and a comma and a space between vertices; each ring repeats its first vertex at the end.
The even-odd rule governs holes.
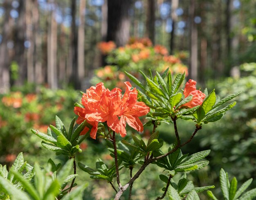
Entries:
MULTIPOLYGON (((140 78, 138 70, 148 73, 150 68, 154 73, 169 67, 173 75, 186 71, 187 79, 197 80, 202 91, 216 88, 221 98, 242 91, 237 105, 218 123, 204 125, 183 150, 212 149, 209 166, 190 173, 189 179, 197 186, 219 188, 223 168, 238 183, 255 180, 256 1, 122 2, 0 0, 0 163, 11 166, 20 151, 29 163, 44 165, 49 157, 66 162, 44 149, 30 129, 46 132, 55 115, 69 124, 74 102, 81 98, 79 90, 99 81, 122 88, 128 80, 124 71, 140 78)), ((190 136, 193 127, 178 120, 181 138, 190 136)), ((157 129, 167 143, 175 137, 164 124, 157 129)), ((149 137, 150 131, 141 134, 149 137)), ((99 157, 113 164, 104 140, 88 139, 81 149, 78 161, 92 168, 99 157)), ((106 182, 78 173, 77 184, 89 183, 85 199, 112 198, 106 182)), ((134 183, 137 199, 161 193, 159 173, 154 166, 146 168, 142 176, 150 176, 134 183)), ((128 193, 124 196, 127 199, 128 193)), ((205 194, 200 197, 207 199, 205 194)))

